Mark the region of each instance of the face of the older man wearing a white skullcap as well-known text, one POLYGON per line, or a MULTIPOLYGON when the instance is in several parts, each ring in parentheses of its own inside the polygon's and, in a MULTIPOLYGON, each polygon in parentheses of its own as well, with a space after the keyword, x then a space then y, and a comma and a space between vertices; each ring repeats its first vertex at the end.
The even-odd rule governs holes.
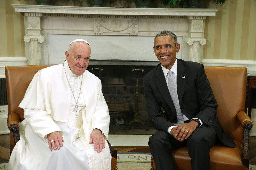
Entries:
POLYGON ((65 52, 70 70, 77 76, 82 75, 88 67, 91 48, 83 42, 74 42, 70 53, 65 52))

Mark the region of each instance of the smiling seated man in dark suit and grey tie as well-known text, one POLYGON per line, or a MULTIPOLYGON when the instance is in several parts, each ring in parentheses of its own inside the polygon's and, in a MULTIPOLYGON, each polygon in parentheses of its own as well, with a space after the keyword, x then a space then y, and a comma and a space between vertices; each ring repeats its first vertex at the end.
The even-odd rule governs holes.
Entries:
POLYGON ((176 58, 180 45, 170 31, 155 36, 160 64, 144 76, 149 121, 158 131, 149 139, 157 170, 176 169, 171 150, 187 146, 193 170, 210 170, 217 141, 235 147, 217 117, 217 102, 202 64, 176 58))

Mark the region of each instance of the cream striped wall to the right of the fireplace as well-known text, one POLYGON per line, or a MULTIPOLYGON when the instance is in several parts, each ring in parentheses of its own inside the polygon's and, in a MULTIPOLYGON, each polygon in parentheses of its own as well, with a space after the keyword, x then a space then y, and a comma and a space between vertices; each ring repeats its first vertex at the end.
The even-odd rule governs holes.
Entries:
POLYGON ((204 59, 256 60, 256 0, 226 0, 205 21, 204 59))

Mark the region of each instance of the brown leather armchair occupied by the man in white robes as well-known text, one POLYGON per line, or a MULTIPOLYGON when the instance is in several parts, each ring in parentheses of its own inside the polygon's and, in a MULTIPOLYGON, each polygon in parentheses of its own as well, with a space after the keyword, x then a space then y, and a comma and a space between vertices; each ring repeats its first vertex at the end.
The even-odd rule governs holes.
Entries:
MULTIPOLYGON (((35 73, 49 66, 51 65, 5 67, 8 99, 7 126, 10 129, 10 154, 15 144, 19 141, 19 122, 24 119, 23 109, 18 107, 19 103, 21 103, 35 73)), ((111 170, 117 170, 117 150, 115 150, 110 143, 109 147, 112 156, 111 170)))

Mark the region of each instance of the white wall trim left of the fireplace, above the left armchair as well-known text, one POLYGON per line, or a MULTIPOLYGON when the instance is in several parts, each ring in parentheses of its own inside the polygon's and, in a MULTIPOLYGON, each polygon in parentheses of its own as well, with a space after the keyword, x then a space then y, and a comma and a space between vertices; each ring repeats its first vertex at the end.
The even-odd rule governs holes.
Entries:
POLYGON ((5 78, 5 66, 25 66, 26 57, 0 57, 0 78, 5 78))

